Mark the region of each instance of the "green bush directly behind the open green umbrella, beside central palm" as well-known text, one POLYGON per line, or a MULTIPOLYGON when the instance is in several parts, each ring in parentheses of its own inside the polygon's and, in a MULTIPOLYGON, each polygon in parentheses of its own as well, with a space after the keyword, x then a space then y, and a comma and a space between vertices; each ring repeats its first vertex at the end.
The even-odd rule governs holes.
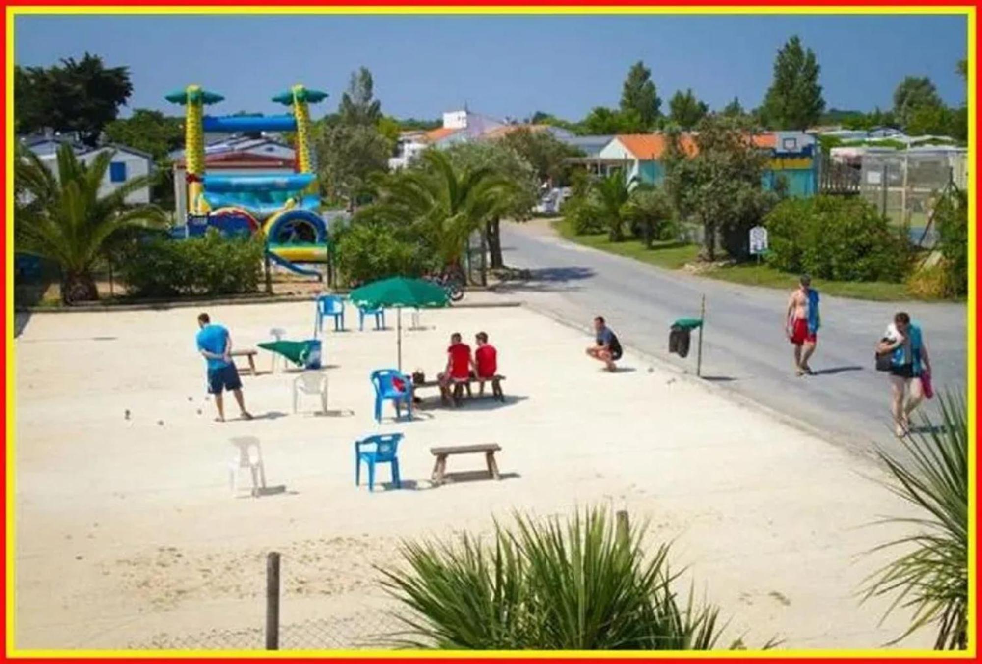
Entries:
POLYGON ((349 283, 393 276, 415 277, 433 269, 435 255, 421 243, 398 238, 386 224, 355 222, 337 236, 338 270, 349 283))

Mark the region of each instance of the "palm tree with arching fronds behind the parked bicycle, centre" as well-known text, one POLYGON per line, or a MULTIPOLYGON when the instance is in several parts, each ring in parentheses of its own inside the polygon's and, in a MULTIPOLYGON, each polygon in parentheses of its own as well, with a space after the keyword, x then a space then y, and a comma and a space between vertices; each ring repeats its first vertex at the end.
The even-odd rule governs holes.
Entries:
POLYGON ((468 236, 500 210, 509 182, 487 167, 455 169, 437 150, 425 152, 421 166, 383 178, 366 214, 409 220, 444 266, 458 264, 468 236))

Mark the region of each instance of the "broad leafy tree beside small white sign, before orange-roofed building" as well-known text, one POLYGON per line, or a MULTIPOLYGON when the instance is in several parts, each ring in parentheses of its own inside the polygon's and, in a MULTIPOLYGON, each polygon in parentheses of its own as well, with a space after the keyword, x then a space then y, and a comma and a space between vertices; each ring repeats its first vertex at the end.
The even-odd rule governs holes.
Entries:
POLYGON ((762 176, 769 155, 753 143, 746 121, 707 116, 697 128, 698 152, 686 157, 673 132, 666 154, 666 187, 679 218, 693 217, 703 228, 704 254, 716 259, 717 244, 733 258, 748 255, 747 233, 777 202, 762 176))

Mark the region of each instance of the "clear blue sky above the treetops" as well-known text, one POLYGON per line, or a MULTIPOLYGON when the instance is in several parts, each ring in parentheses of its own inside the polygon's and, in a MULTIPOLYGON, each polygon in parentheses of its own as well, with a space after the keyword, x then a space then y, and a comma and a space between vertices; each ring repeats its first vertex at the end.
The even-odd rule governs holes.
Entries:
POLYGON ((216 115, 282 112, 269 97, 305 83, 331 94, 319 117, 364 65, 383 110, 399 117, 436 118, 466 101, 497 117, 576 120, 616 106, 636 60, 651 68, 663 108, 685 87, 712 108, 735 95, 756 106, 795 33, 818 56, 829 108, 889 108, 908 74, 931 77, 956 104, 966 29, 964 17, 946 16, 36 16, 17 19, 15 48, 20 65, 87 49, 129 66, 131 109, 177 111, 163 95, 201 83, 226 97, 216 115))

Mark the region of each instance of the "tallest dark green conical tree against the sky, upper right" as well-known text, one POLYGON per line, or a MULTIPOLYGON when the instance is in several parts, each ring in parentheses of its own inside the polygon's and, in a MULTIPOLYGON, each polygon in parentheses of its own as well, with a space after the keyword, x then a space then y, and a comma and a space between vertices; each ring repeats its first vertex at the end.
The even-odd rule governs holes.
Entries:
POLYGON ((761 113, 773 129, 804 131, 818 122, 825 108, 821 67, 815 53, 801 47, 797 35, 789 39, 774 60, 774 76, 764 96, 761 113))

